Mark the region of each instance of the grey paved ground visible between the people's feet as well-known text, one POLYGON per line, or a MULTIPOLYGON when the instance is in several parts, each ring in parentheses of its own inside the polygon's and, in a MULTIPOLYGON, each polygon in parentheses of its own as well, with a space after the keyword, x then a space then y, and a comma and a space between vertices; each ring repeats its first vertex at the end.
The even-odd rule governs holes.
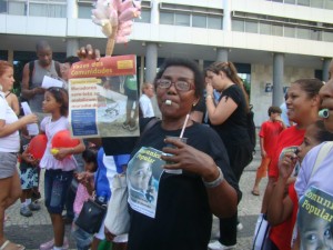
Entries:
MULTIPOLYGON (((238 236, 236 250, 251 249, 254 224, 261 208, 262 196, 254 197, 251 194, 255 178, 255 169, 260 163, 259 158, 260 154, 258 153, 252 163, 245 169, 240 183, 241 190, 243 191, 243 199, 239 206, 239 216, 244 228, 238 236)), ((263 192, 265 184, 266 179, 261 183, 261 192, 263 192)), ((50 218, 43 206, 41 211, 34 212, 31 218, 20 216, 19 211, 19 202, 6 211, 9 216, 9 220, 6 222, 4 233, 10 240, 24 244, 27 249, 38 249, 41 242, 52 238, 50 218)), ((69 226, 67 227, 67 234, 70 239, 70 247, 74 249, 74 243, 70 237, 69 226)))

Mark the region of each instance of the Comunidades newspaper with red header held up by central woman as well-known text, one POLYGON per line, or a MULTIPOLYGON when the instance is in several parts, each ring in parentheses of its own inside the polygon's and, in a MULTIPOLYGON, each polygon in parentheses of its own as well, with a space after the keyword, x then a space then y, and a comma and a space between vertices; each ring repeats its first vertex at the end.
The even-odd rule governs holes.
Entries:
POLYGON ((137 57, 130 54, 85 60, 72 66, 69 121, 73 137, 139 136, 135 62, 137 57), (124 126, 129 119, 131 127, 124 126))

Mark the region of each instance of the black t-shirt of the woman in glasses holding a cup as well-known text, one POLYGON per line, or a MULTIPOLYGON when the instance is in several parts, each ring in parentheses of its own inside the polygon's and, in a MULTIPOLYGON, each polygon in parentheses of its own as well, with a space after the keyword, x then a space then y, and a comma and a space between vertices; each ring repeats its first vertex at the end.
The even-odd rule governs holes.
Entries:
MULTIPOLYGON (((165 131, 157 123, 140 139, 132 156, 141 147, 162 150, 165 136, 179 136, 181 130, 165 131)), ((241 192, 229 167, 229 159, 220 137, 210 128, 194 123, 186 128, 188 144, 210 154, 222 169, 224 178, 241 192)), ((223 198, 222 198, 223 199, 223 198)), ((200 176, 161 176, 155 218, 130 209, 131 228, 129 250, 206 250, 211 236, 212 213, 209 198, 200 176)))

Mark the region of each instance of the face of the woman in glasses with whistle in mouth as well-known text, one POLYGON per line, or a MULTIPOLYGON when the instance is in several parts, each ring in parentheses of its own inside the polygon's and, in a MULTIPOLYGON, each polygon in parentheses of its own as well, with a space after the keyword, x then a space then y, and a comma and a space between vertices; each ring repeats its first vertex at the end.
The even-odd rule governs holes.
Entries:
POLYGON ((168 89, 157 86, 157 99, 163 118, 181 118, 188 114, 192 106, 198 102, 194 90, 194 73, 186 67, 168 67, 161 79, 169 79, 172 84, 168 89), (178 90, 174 86, 176 81, 186 81, 192 86, 188 91, 178 90), (167 101, 170 100, 170 101, 167 101), (167 101, 167 103, 165 103, 167 101))

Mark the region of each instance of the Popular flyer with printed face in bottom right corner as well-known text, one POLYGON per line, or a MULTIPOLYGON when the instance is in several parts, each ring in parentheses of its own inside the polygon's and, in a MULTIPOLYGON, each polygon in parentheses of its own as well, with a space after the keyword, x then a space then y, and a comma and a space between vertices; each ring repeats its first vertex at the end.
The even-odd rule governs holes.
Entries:
POLYGON ((300 199, 301 249, 333 249, 333 196, 311 187, 300 199))

